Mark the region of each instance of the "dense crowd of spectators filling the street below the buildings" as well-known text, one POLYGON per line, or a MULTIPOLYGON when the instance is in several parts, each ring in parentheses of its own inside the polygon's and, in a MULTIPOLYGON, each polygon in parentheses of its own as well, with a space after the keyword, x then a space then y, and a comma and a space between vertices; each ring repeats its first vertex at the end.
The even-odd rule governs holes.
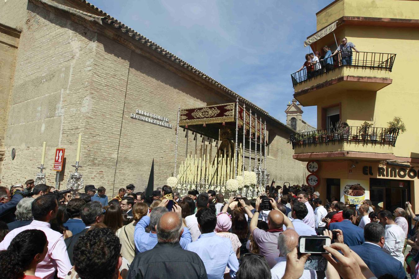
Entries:
POLYGON ((104 187, 57 191, 28 180, 0 186, 0 271, 6 279, 419 278, 419 221, 406 203, 394 212, 320 198, 307 186, 266 187, 259 197, 188 195, 133 184, 112 199, 104 187), (393 217, 395 217, 393 219, 393 217), (305 269, 300 236, 324 235, 325 270, 305 269), (406 259, 406 244, 411 251, 406 259))

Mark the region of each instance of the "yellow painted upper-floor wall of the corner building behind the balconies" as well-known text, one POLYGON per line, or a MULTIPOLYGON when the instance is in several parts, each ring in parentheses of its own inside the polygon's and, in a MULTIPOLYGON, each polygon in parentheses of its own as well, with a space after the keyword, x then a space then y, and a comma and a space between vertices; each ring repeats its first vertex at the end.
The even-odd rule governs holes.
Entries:
POLYGON ((419 49, 419 32, 413 28, 377 26, 341 26, 341 29, 342 36, 346 36, 348 41, 353 42, 360 51, 396 54, 393 71, 389 73, 370 69, 338 69, 296 86, 295 91, 346 75, 391 78, 392 84, 378 92, 364 91, 367 84, 359 82, 359 91, 345 90, 344 87, 339 92, 334 90, 328 92, 326 87, 322 89, 324 93, 316 94, 315 91, 304 98, 310 100, 310 105, 317 105, 318 127, 321 127, 322 121, 321 107, 339 102, 341 103, 341 120, 349 125, 360 125, 364 121, 374 119, 376 127, 385 128, 388 121, 395 116, 400 116, 406 124, 407 132, 398 136, 394 154, 399 157, 418 158, 419 146, 416 143, 419 142, 419 133, 416 130, 416 122, 419 90, 417 66, 413 62, 417 60, 414 58, 414 53, 419 49))

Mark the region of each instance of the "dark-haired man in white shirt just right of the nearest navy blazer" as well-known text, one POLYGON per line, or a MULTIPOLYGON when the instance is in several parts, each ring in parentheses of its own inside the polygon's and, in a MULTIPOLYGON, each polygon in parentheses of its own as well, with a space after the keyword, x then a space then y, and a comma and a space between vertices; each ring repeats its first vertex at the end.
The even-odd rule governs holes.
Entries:
POLYGON ((406 238, 403 229, 393 221, 393 214, 388 210, 378 212, 378 219, 382 225, 385 225, 383 251, 403 264, 403 246, 406 238))

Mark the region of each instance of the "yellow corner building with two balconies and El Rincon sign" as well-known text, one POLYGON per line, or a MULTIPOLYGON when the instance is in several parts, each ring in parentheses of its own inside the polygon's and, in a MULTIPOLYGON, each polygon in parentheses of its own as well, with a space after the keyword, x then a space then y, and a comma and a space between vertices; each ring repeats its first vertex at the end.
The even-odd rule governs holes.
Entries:
POLYGON ((294 97, 317 106, 319 129, 291 135, 294 159, 318 163, 316 190, 323 200, 365 198, 388 210, 410 201, 419 213, 419 2, 336 0, 316 16, 307 52, 324 56, 328 46, 333 54, 343 38, 355 49, 332 56, 333 64, 320 61, 321 69, 316 64, 292 74, 294 97), (394 117, 406 132, 389 129, 394 117), (345 191, 356 184, 365 195, 362 189, 345 191))

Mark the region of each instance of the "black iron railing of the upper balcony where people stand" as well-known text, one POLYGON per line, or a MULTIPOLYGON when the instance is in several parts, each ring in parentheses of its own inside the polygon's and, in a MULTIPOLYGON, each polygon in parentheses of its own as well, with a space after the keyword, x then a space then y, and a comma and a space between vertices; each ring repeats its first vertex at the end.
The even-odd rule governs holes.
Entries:
POLYGON ((327 74, 340 67, 377 69, 391 72, 394 59, 396 59, 396 54, 352 51, 351 56, 342 57, 342 53, 338 52, 331 57, 333 57, 334 64, 327 64, 326 59, 324 59, 323 61, 313 64, 313 67, 310 67, 309 71, 307 71, 307 68, 305 67, 304 69, 291 74, 292 87, 323 74, 327 74), (313 70, 310 71, 310 69, 313 70))

